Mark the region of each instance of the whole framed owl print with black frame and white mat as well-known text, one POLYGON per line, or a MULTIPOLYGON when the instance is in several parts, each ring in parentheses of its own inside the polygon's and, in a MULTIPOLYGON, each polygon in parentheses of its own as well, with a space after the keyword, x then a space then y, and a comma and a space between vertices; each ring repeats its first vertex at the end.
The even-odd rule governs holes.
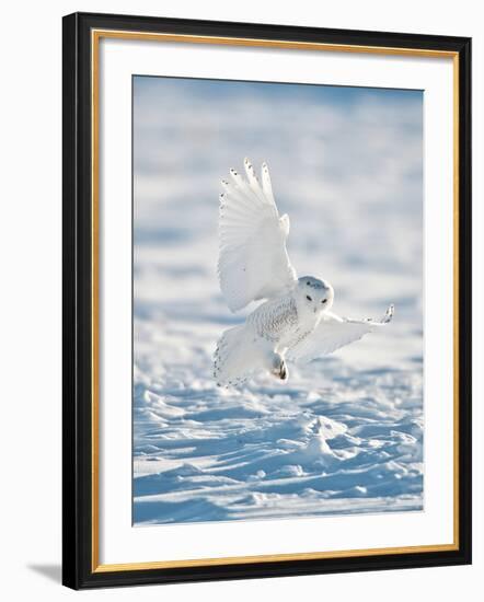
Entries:
POLYGON ((471 40, 64 19, 64 583, 471 562, 471 40))

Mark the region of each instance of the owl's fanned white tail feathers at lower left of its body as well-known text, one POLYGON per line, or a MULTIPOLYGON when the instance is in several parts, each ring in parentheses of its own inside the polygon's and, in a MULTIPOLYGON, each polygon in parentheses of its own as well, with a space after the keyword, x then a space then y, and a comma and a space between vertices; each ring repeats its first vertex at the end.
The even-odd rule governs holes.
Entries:
POLYGON ((214 378, 219 386, 237 386, 261 370, 261 356, 245 324, 220 337, 214 358, 214 378))

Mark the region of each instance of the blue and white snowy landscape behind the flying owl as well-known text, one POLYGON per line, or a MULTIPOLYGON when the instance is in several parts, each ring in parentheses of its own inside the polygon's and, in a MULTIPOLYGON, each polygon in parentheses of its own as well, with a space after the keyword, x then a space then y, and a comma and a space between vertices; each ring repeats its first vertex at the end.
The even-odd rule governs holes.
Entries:
POLYGON ((135 78, 134 118, 134 523, 422 510, 422 93, 135 78), (246 312, 218 287, 219 181, 245 155, 299 274, 395 317, 224 390, 212 352, 246 312))

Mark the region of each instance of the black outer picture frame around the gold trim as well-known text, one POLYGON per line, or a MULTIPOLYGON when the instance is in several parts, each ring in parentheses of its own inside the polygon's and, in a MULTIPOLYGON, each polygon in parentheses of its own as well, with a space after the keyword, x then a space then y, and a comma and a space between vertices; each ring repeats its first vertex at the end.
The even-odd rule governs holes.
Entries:
MULTIPOLYGON (((62 582, 73 589, 249 579, 471 563, 471 39, 436 35, 326 30, 74 13, 62 23, 62 582), (405 48, 453 53, 459 67, 459 543, 451 551, 241 563, 215 566, 95 570, 93 556, 93 30, 155 32, 405 48)), ((95 494, 95 491, 94 491, 95 494)))

